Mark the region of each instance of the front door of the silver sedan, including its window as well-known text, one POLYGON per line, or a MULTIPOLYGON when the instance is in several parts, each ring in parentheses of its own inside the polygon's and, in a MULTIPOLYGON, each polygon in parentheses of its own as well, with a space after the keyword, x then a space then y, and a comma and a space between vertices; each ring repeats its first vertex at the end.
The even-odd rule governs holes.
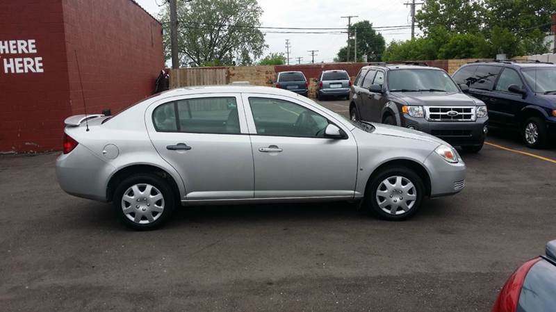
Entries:
POLYGON ((244 94, 255 168, 255 198, 352 198, 357 144, 332 115, 291 97, 244 94), (332 123, 347 138, 324 138, 332 123))

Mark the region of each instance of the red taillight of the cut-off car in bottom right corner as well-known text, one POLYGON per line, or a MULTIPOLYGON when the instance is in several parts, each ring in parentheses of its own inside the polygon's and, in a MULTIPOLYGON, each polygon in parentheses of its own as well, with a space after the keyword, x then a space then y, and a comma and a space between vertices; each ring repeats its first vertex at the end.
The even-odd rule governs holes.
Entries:
POLYGON ((530 268, 535 263, 539 262, 539 260, 541 260, 541 258, 534 258, 523 263, 523 265, 509 277, 494 302, 492 312, 516 312, 523 281, 525 281, 525 277, 530 268))

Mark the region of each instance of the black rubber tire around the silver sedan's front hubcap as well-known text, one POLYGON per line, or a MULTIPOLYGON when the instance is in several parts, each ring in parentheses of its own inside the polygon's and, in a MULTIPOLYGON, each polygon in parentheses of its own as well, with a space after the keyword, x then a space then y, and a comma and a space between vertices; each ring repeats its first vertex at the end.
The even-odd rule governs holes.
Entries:
MULTIPOLYGON (((401 180, 400 186, 403 186, 404 180, 401 180)), ((409 186, 409 183, 406 183, 405 186, 409 186)), ((407 192, 411 191, 411 188, 409 190, 407 190, 407 192)), ((407 194, 406 196, 410 196, 411 194, 407 194)), ((384 219, 384 220, 391 220, 391 221, 402 221, 402 220, 407 220, 410 217, 412 217, 413 215, 415 215, 415 213, 418 211, 418 208, 421 205, 421 202, 423 202, 423 195, 425 195, 425 186, 423 184, 423 179, 420 178, 420 176, 418 174, 416 174, 416 172, 414 172, 414 170, 411 170, 407 167, 391 167, 391 168, 385 168, 383 170, 381 170, 380 172, 378 172, 377 174, 375 174, 371 180, 368 183, 368 187, 366 190, 366 197, 365 197, 365 206, 368 209, 368 211, 370 211, 370 213, 373 213, 374 215, 377 215, 377 217, 384 219), (383 188, 383 182, 386 181, 387 179, 393 177, 392 179, 389 179, 390 181, 396 181, 396 178, 400 176, 403 179, 409 182, 411 182, 413 184, 413 188, 414 188, 414 197, 415 199, 412 200, 407 200, 407 198, 404 200, 402 196, 406 195, 405 190, 402 190, 402 188, 393 188, 393 190, 385 190, 383 188), (387 192, 387 194, 385 193, 385 197, 377 197, 377 192, 379 191, 379 189, 384 190, 385 192, 387 192), (398 197, 398 198, 396 198, 398 197), (384 200, 384 202, 386 202, 386 206, 384 206, 383 208, 386 210, 389 210, 390 213, 386 212, 383 210, 383 208, 381 208, 379 206, 379 200, 384 200), (405 206, 407 208, 409 208, 409 210, 405 211, 404 208, 397 206, 391 206, 388 203, 390 201, 392 201, 392 204, 394 204, 394 201, 398 201, 400 202, 405 202, 405 206), (395 209, 394 213, 392 213, 392 208, 395 209)), ((396 204, 396 205, 400 205, 400 204, 396 204)))

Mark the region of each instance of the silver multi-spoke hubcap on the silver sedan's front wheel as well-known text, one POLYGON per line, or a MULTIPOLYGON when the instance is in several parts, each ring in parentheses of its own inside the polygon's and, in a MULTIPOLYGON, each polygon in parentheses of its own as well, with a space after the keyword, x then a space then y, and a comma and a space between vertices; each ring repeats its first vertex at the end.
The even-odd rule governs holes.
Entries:
POLYGON ((385 213, 402 215, 415 205, 417 190, 404 176, 390 176, 377 188, 377 204, 385 213))

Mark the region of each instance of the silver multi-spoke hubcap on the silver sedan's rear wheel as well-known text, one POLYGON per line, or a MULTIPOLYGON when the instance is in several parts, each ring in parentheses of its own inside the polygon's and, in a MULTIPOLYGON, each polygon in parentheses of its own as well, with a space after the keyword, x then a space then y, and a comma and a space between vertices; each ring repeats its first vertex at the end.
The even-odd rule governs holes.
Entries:
POLYGON ((158 188, 150 184, 136 184, 124 192, 122 211, 135 223, 149 224, 161 217, 164 211, 164 197, 158 188))

